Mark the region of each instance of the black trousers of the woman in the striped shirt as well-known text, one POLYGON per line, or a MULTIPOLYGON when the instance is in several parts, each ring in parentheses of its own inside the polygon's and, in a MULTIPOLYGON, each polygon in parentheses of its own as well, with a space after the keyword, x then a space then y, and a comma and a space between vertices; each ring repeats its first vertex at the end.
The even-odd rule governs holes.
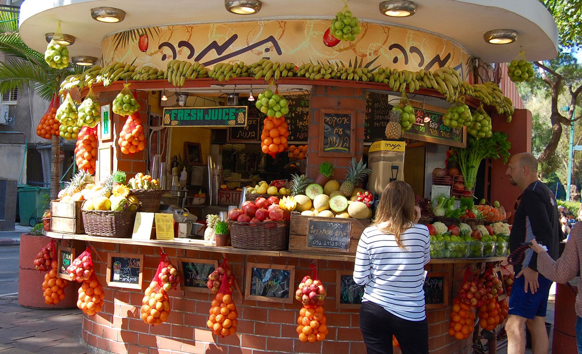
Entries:
POLYGON ((392 335, 402 354, 428 354, 428 323, 404 320, 370 301, 360 308, 360 330, 368 354, 392 354, 392 335))

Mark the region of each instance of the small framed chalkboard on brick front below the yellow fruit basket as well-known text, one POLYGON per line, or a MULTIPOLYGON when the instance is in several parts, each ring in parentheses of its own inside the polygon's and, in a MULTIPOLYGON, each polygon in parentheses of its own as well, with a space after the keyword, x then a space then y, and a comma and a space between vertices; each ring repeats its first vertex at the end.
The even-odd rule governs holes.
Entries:
POLYGON ((141 289, 143 254, 108 253, 107 286, 141 289))

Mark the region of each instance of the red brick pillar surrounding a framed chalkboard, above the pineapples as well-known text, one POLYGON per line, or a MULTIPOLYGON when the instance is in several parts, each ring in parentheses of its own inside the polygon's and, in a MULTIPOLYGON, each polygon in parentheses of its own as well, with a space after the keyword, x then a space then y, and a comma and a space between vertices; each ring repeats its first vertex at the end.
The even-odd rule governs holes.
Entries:
POLYGON ((346 176, 347 166, 352 157, 320 157, 318 154, 322 125, 320 111, 326 108, 350 109, 354 112, 356 139, 352 139, 352 144, 356 144, 356 160, 360 161, 364 150, 365 90, 333 86, 314 86, 311 90, 307 177, 314 179, 318 174, 321 162, 329 161, 334 167, 333 178, 341 181, 346 176))

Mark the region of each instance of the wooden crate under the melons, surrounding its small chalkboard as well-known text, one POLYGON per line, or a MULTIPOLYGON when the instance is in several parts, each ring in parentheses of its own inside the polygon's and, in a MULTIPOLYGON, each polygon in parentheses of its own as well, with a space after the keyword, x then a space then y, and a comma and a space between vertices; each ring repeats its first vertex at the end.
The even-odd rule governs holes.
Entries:
POLYGON ((357 219, 343 219, 343 218, 320 218, 301 215, 296 211, 291 213, 291 221, 289 224, 289 250, 309 251, 309 252, 326 252, 326 253, 342 253, 342 254, 356 254, 356 249, 360 236, 364 229, 370 226, 370 220, 357 219), (350 228, 350 243, 347 250, 333 249, 333 248, 316 248, 307 247, 307 225, 308 220, 313 219, 317 221, 349 221, 352 226, 350 228))

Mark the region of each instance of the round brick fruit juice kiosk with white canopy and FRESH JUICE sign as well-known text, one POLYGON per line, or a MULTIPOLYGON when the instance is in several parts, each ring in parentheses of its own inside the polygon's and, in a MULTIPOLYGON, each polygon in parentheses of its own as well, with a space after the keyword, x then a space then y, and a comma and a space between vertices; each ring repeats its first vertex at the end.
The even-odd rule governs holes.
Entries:
POLYGON ((53 260, 40 275, 21 265, 24 305, 79 307, 83 341, 104 352, 364 353, 355 250, 379 191, 402 179, 430 225, 431 353, 485 345, 510 291, 501 206, 517 190, 501 155, 483 157, 475 176, 462 151, 491 132, 506 133, 506 153, 531 146, 512 83, 484 79, 494 77, 485 63, 520 50, 556 55, 551 15, 527 2, 528 12, 471 1, 25 1, 24 42, 44 52, 38 33, 58 19, 76 40, 59 49, 66 59, 47 60, 89 66, 61 84, 56 118, 81 125, 81 172, 52 201, 47 237, 20 257, 44 249, 39 267, 53 260), (93 128, 78 119, 87 98, 100 106, 83 110, 93 128), (451 154, 458 166, 445 164, 451 154), (169 170, 175 155, 186 185, 207 183, 207 239, 177 237, 172 215, 158 213, 164 180, 150 162, 169 170), (191 183, 196 174, 208 182, 191 183), (210 207, 223 181, 248 188, 221 217, 210 207))

